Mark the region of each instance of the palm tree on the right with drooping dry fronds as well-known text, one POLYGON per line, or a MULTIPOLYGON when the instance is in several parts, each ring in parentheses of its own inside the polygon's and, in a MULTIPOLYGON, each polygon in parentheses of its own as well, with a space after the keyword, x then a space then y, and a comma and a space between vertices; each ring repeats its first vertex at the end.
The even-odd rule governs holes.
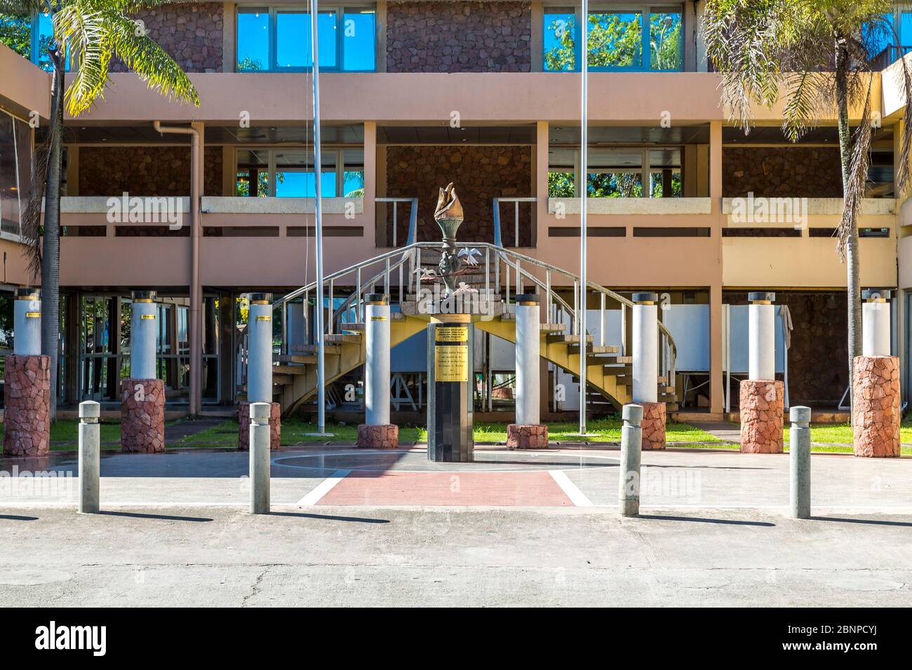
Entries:
MULTIPOLYGON (((837 230, 837 251, 845 262, 848 294, 849 385, 855 356, 861 355, 858 216, 865 197, 873 129, 873 56, 895 37, 890 0, 708 0, 701 31, 707 54, 722 78, 722 101, 745 133, 751 108, 784 101, 782 132, 801 139, 818 119, 836 112, 845 204, 837 230), (853 132, 849 109, 863 109, 853 132)), ((896 42, 894 42, 896 44, 896 42)), ((896 196, 909 185, 912 145, 910 66, 899 68, 906 107, 899 139, 896 196)))

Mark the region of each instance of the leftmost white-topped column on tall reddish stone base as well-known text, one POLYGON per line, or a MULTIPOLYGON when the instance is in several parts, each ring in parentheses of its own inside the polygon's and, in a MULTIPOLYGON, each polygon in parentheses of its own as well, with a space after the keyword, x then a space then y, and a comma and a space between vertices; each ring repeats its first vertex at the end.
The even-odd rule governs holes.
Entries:
POLYGON ((13 355, 4 369, 6 456, 44 456, 50 450, 51 367, 41 356, 41 294, 16 290, 13 355))

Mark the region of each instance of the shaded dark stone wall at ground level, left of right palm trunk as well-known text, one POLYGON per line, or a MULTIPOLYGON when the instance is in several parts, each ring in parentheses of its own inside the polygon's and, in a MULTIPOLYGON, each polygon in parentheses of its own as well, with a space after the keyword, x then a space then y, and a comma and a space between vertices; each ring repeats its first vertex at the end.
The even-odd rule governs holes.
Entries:
MULTIPOLYGON (((848 386, 845 292, 776 293, 792 314, 789 349, 791 405, 834 407, 848 386)), ((725 294, 728 304, 747 304, 747 294, 725 294)), ((732 397, 736 397, 732 393, 732 397)))

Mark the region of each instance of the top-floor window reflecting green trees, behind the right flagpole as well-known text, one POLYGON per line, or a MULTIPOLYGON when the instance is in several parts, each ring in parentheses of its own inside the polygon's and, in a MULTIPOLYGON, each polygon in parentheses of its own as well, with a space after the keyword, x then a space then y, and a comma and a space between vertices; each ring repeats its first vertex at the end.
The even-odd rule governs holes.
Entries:
MULTIPOLYGON (((589 10, 586 63, 593 70, 673 71, 682 67, 680 5, 641 5, 589 10), (644 36, 646 38, 644 39, 644 36)), ((545 8, 544 69, 578 70, 578 10, 545 8)))

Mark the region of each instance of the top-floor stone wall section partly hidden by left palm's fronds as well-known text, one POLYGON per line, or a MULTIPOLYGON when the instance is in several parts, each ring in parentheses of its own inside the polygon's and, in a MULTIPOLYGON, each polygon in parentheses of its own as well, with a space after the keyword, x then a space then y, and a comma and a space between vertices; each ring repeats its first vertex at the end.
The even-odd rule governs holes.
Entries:
MULTIPOLYGON (((137 12, 146 34, 167 51, 184 72, 222 72, 223 20, 221 3, 171 3, 137 12)), ((126 72, 111 61, 111 72, 126 72)))

